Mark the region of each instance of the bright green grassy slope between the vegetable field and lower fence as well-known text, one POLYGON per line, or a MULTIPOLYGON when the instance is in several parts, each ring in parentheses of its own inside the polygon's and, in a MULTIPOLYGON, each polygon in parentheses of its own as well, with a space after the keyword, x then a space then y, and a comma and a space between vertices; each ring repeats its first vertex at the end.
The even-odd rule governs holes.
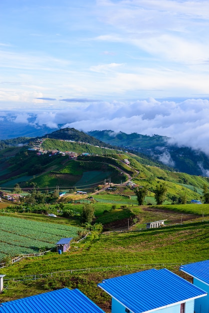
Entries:
POLYGON ((208 258, 208 222, 138 232, 91 234, 78 249, 50 252, 3 268, 8 277, 98 266, 187 263, 208 258))

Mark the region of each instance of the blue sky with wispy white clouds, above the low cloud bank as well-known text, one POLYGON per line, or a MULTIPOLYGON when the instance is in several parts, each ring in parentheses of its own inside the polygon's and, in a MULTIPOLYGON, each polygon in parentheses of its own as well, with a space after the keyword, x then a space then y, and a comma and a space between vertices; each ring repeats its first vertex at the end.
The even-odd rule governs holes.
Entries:
POLYGON ((0 1, 0 107, 207 97, 208 17, 207 0, 0 1))

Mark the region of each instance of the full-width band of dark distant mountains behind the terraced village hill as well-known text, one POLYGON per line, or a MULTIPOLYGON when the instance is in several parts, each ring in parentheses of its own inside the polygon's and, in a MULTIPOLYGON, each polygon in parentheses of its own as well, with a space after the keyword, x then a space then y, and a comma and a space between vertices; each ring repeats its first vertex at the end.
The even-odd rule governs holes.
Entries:
POLYGON ((160 167, 162 167, 160 163, 166 165, 167 169, 173 168, 175 171, 192 175, 209 176, 209 158, 205 153, 188 147, 171 145, 167 137, 157 134, 148 136, 137 133, 126 134, 121 131, 116 133, 112 130, 94 130, 85 133, 75 128, 62 128, 48 133, 45 132, 41 136, 37 131, 37 134, 30 138, 23 136, 0 140, 0 149, 21 144, 25 145, 37 137, 81 141, 99 147, 119 147, 123 151, 132 151, 142 156, 143 162, 145 162, 144 155, 146 155, 146 162, 150 164, 153 164, 154 161, 160 167))

